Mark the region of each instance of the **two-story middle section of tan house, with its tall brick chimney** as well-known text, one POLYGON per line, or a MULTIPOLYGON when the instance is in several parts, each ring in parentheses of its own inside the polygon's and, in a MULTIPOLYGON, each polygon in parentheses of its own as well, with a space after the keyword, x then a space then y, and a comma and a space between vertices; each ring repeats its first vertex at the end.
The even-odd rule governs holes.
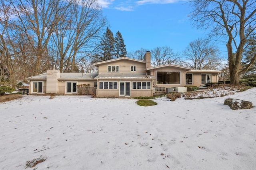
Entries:
POLYGON ((150 67, 150 52, 144 60, 122 57, 109 61, 94 63, 98 67, 97 97, 133 98, 153 96, 153 82, 156 79, 147 75, 150 67))

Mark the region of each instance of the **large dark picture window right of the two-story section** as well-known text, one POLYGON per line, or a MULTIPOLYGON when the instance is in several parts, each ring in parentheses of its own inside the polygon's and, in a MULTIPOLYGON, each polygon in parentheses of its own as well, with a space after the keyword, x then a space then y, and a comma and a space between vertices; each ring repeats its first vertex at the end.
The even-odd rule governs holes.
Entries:
POLYGON ((157 84, 180 84, 179 71, 158 71, 156 76, 157 84))

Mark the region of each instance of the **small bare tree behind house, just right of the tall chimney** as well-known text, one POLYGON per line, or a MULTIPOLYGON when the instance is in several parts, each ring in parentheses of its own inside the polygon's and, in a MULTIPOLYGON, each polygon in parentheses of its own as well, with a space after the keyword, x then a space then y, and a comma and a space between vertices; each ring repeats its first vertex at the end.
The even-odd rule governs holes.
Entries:
POLYGON ((154 66, 164 64, 176 64, 179 60, 178 53, 174 53, 170 47, 156 47, 151 51, 154 66))

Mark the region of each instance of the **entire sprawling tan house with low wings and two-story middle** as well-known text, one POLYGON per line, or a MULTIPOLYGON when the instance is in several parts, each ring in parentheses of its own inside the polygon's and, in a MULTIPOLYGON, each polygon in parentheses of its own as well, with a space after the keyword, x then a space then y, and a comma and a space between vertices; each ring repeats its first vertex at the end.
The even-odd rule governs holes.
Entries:
POLYGON ((151 66, 151 54, 144 60, 122 57, 94 63, 98 73, 61 73, 47 70, 46 73, 26 78, 30 81, 30 94, 60 93, 80 94, 79 86, 87 84, 88 94, 97 97, 134 98, 153 96, 168 88, 201 86, 218 82, 217 70, 193 70, 175 64, 151 66))

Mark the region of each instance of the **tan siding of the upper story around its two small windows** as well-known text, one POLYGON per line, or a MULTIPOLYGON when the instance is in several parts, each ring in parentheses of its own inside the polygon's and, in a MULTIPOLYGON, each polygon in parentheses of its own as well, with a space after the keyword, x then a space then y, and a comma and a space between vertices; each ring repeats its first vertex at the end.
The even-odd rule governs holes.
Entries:
MULTIPOLYGON (((130 67, 136 66, 136 73, 145 72, 145 63, 139 63, 136 61, 122 60, 122 61, 113 61, 111 63, 102 64, 99 66, 99 74, 108 72, 108 66, 119 66, 119 72, 131 72, 130 67)), ((135 73, 135 72, 134 72, 135 73)))

